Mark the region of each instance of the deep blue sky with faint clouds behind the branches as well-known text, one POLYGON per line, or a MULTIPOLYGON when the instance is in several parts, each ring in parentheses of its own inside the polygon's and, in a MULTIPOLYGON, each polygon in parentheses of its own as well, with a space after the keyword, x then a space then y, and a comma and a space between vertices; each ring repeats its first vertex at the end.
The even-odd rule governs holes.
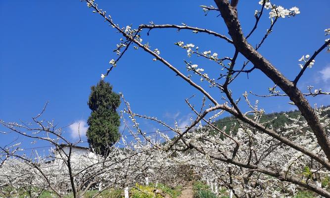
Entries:
MULTIPOLYGON (((259 0, 241 0, 238 4, 239 19, 243 32, 254 25, 254 10, 260 9, 259 0)), ((324 30, 330 28, 329 0, 273 0, 285 8, 299 7, 301 13, 295 17, 279 19, 273 33, 259 50, 286 77, 293 80, 299 72, 298 59, 312 54, 326 37, 324 30)), ((109 1, 97 0, 100 8, 107 11, 121 27, 138 27, 153 21, 155 24, 181 24, 211 29, 227 34, 223 19, 217 12, 207 16, 199 7, 214 5, 211 0, 169 0, 169 1, 109 1)), ((249 39, 258 43, 270 19, 268 11, 262 17, 258 29, 249 39)), ((90 115, 87 106, 90 87, 100 80, 100 74, 109 68, 109 60, 116 59, 112 52, 121 36, 103 19, 92 13, 92 9, 80 0, 45 1, 11 0, 0 1, 0 119, 5 121, 30 121, 49 101, 44 118, 55 120, 59 126, 77 121, 83 122, 90 115)), ((174 45, 184 41, 193 43, 200 51, 211 50, 219 56, 231 56, 233 48, 223 40, 206 34, 174 29, 152 30, 150 35, 142 33, 143 42, 149 42, 152 49, 158 48, 161 55, 178 69, 185 71, 183 60, 193 61, 214 78, 220 70, 210 61, 187 57, 186 50, 174 45)), ((238 57, 237 64, 245 59, 238 57)), ((330 91, 329 53, 323 51, 317 57, 313 68, 306 71, 298 86, 306 92, 308 85, 330 91)), ((117 67, 106 78, 116 92, 122 92, 138 113, 157 116, 171 124, 177 120, 185 125, 193 115, 184 99, 196 94, 198 106, 201 96, 196 90, 142 50, 129 49, 118 62, 117 67)), ((221 93, 208 89, 219 100, 221 93)), ((260 71, 241 75, 231 85, 237 99, 244 91, 267 94, 273 84, 260 71)), ((257 98, 251 97, 252 100, 257 98)), ((260 107, 266 112, 292 110, 288 99, 259 99, 260 107)), ((329 97, 309 98, 311 104, 330 104, 329 97)), ((246 105, 241 103, 246 109, 246 105)), ((122 109, 123 106, 120 107, 122 109)), ((120 110, 119 109, 119 110, 120 110)), ((141 121, 146 132, 157 125, 141 121)), ((71 127, 73 128, 73 127, 71 127)), ((0 128, 4 130, 3 128, 0 128)), ((74 140, 67 128, 67 137, 74 140)), ((11 142, 16 136, 1 135, 0 145, 11 142)), ((20 139, 27 142, 26 139, 20 139)), ((29 147, 29 146, 27 146, 29 147)))

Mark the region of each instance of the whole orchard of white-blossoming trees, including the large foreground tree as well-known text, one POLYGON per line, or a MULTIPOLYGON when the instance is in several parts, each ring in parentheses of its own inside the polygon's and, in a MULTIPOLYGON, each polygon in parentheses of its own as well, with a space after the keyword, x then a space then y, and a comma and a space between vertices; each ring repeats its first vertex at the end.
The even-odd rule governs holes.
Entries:
MULTIPOLYGON (((120 147, 112 147, 108 157, 98 156, 93 152, 74 155, 72 149, 80 141, 70 143, 63 137, 62 128, 57 128, 53 122, 43 121, 42 114, 33 118, 34 124, 1 121, 11 133, 46 141, 53 146, 47 155, 36 152, 32 155, 21 154, 24 152, 19 144, 1 147, 2 194, 10 197, 17 195, 19 191, 25 191, 30 197, 38 197, 43 191, 50 191, 57 197, 71 193, 74 198, 79 198, 89 190, 97 189, 96 197, 107 189, 132 188, 136 182, 146 180, 157 183, 170 180, 176 175, 176 167, 184 165, 193 169, 215 193, 218 193, 218 189, 227 189, 230 198, 293 198, 301 190, 330 198, 330 117, 324 113, 329 111, 329 107, 312 107, 306 99, 309 96, 330 93, 321 89, 313 91, 311 86, 307 93, 303 93, 297 87, 306 69, 316 64, 317 55, 330 50, 330 40, 326 37, 325 43, 321 43, 318 49, 311 49, 315 51, 313 54, 303 55, 299 59, 300 64, 297 65, 299 64, 301 70, 292 80, 284 77, 276 69, 276 65, 258 52, 279 21, 303 14, 299 8, 293 6, 287 9, 270 0, 260 0, 259 5, 256 3, 259 7, 254 13, 254 26, 249 32, 243 33, 236 10, 238 0, 215 0, 215 6, 202 5, 206 13, 220 13, 221 17, 215 20, 222 18, 230 35, 227 37, 187 24, 163 25, 151 22, 136 28, 130 25, 120 26, 94 0, 85 1, 95 14, 100 15, 123 37, 115 50, 118 57, 110 60, 110 68, 101 74, 102 79, 119 66, 119 60, 132 47, 142 49, 154 61, 160 61, 182 78, 184 83, 195 88, 203 98, 200 104, 192 104, 191 98, 186 99, 188 108, 195 116, 191 117, 189 126, 181 129, 177 123, 172 126, 156 117, 134 112, 130 103, 121 95, 126 105, 121 111, 121 117, 134 140, 122 137, 116 143, 120 147), (253 47, 248 39, 256 32, 262 17, 270 19, 270 27, 253 47), (198 64, 185 61, 187 71, 180 71, 160 55, 159 48, 151 49, 148 42, 145 42, 146 39, 142 40, 141 31, 144 29, 148 34, 154 29, 206 33, 226 41, 234 50, 228 50, 226 54, 212 53, 205 46, 204 50, 199 51, 202 47, 178 41, 175 44, 187 50, 189 57, 208 59, 220 68, 216 74, 205 73, 204 68, 198 64), (238 62, 238 55, 246 60, 243 63, 238 62), (238 76, 255 71, 262 72, 274 83, 274 87, 269 88, 270 94, 261 96, 249 93, 247 87, 246 92, 242 93, 242 99, 234 98, 232 83, 238 76), (217 96, 212 96, 205 87, 218 90, 223 102, 217 96), (284 94, 280 94, 276 88, 280 88, 284 94), (265 112, 258 106, 258 100, 251 101, 249 95, 266 99, 287 97, 299 109, 301 116, 286 115, 290 122, 275 128, 272 125, 274 120, 261 122, 265 112), (243 111, 241 106, 247 106, 249 110, 243 111), (224 113, 229 113, 236 121, 229 130, 216 125, 217 119, 224 113), (139 125, 141 119, 158 123, 168 131, 175 132, 176 136, 170 138, 166 132, 159 130, 148 136, 139 125), (63 150, 61 143, 69 146, 69 152, 63 150)), ((325 35, 330 35, 330 29, 325 30, 325 35)))

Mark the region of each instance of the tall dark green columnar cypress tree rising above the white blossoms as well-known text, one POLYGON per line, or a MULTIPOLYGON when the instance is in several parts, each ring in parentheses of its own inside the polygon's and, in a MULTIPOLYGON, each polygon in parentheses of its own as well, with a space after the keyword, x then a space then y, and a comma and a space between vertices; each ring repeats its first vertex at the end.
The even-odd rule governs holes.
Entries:
POLYGON ((88 118, 87 140, 97 154, 107 156, 109 148, 119 139, 120 116, 116 109, 120 96, 112 91, 112 86, 100 80, 91 87, 88 106, 92 110, 88 118))

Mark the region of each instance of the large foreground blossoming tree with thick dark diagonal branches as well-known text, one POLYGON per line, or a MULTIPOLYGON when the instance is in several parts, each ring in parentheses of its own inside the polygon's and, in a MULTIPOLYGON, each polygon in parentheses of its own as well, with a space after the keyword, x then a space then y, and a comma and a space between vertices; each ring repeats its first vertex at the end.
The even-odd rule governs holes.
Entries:
MULTIPOLYGON (((290 9, 283 8, 282 6, 275 5, 269 0, 261 0, 259 2, 260 8, 254 13, 255 24, 251 31, 243 33, 240 22, 238 20, 238 12, 236 6, 238 0, 215 0, 216 6, 202 6, 205 12, 216 11, 220 12, 223 21, 225 22, 230 38, 220 33, 204 29, 202 27, 191 27, 187 24, 175 25, 175 24, 142 24, 136 29, 132 26, 121 27, 119 26, 110 15, 106 15, 106 12, 98 7, 94 0, 86 0, 88 7, 93 8, 93 12, 99 14, 107 21, 111 27, 113 27, 119 34, 121 34, 124 39, 121 39, 121 43, 117 45, 116 53, 119 55, 116 59, 110 60, 111 67, 107 70, 105 74, 101 77, 104 78, 111 70, 117 65, 118 61, 123 57, 125 52, 130 46, 134 49, 143 49, 146 53, 150 54, 154 61, 160 61, 164 66, 171 69, 177 76, 182 78, 186 83, 195 88, 200 92, 204 98, 200 110, 197 110, 193 104, 190 103, 189 99, 186 102, 189 108, 195 112, 196 116, 192 119, 191 124, 187 126, 184 130, 178 129, 177 126, 171 127, 170 125, 161 122, 157 118, 148 117, 136 114, 130 110, 126 109, 126 112, 130 114, 133 119, 134 126, 143 135, 141 129, 138 128, 138 122, 135 117, 147 118, 156 121, 177 133, 177 138, 174 141, 170 141, 170 144, 162 147, 165 150, 176 150, 176 151, 187 151, 189 149, 194 149, 199 153, 205 155, 207 158, 211 158, 219 163, 233 164, 237 167, 237 174, 248 174, 251 176, 243 177, 245 181, 244 185, 248 186, 250 178, 257 178, 255 174, 262 175, 266 178, 274 177, 276 181, 282 181, 284 184, 294 184, 305 189, 314 191, 324 197, 330 197, 330 192, 322 188, 318 183, 312 182, 314 174, 322 175, 319 171, 329 172, 330 170, 330 139, 329 131, 326 127, 327 123, 323 123, 322 116, 318 114, 318 110, 313 109, 307 99, 307 96, 318 96, 318 95, 329 95, 330 93, 322 92, 322 90, 311 90, 309 87, 308 93, 302 93, 298 87, 297 83, 301 79, 308 67, 312 67, 315 63, 315 58, 324 49, 330 50, 330 40, 327 39, 325 43, 320 44, 320 48, 316 49, 312 55, 304 55, 299 59, 301 61, 300 72, 296 75, 293 80, 289 80, 284 75, 277 70, 276 66, 268 61, 258 49, 266 41, 268 36, 272 33, 273 28, 276 23, 283 18, 293 17, 300 14, 297 7, 292 7, 290 9), (268 28, 266 34, 261 38, 260 43, 253 47, 248 39, 255 32, 258 27, 260 18, 264 15, 266 10, 269 10, 269 18, 271 19, 271 25, 268 28), (207 33, 211 36, 215 36, 221 40, 225 40, 230 45, 234 47, 233 55, 228 54, 218 54, 216 52, 212 53, 210 50, 205 50, 204 52, 199 51, 199 47, 195 47, 194 44, 185 44, 182 41, 176 43, 176 45, 184 50, 187 50, 188 56, 197 56, 200 58, 206 58, 214 62, 214 64, 221 68, 219 70, 220 77, 215 80, 219 74, 208 74, 204 72, 204 68, 198 66, 198 64, 185 61, 187 72, 180 71, 175 65, 171 64, 163 56, 160 55, 160 50, 158 48, 150 49, 145 39, 141 38, 141 31, 143 29, 149 31, 153 29, 178 29, 178 30, 189 30, 193 33, 207 33), (144 41, 144 43, 142 42, 144 41), (237 62, 238 55, 241 54, 246 58, 242 64, 237 62), (242 104, 240 99, 235 99, 233 97, 234 90, 231 90, 230 86, 238 76, 241 74, 249 74, 255 70, 261 71, 265 76, 267 76, 272 82, 274 82, 274 87, 269 88, 270 95, 260 96, 260 97, 287 97, 292 101, 292 104, 296 105, 300 110, 303 118, 302 120, 296 120, 295 123, 299 123, 297 126, 284 126, 283 129, 279 130, 272 127, 272 122, 261 123, 259 118, 264 113, 263 109, 259 109, 257 105, 252 105, 248 99, 247 92, 243 93, 243 97, 246 101, 250 110, 243 112, 239 105, 242 104), (201 83, 197 83, 196 77, 200 79, 201 83), (219 90, 222 93, 222 99, 225 101, 223 103, 219 102, 215 96, 212 96, 206 91, 203 82, 207 82, 209 87, 219 90), (284 94, 280 94, 276 91, 279 87, 283 90, 284 94), (206 103, 211 103, 206 105, 206 103), (236 133, 227 134, 223 129, 219 129, 215 126, 214 121, 219 115, 224 112, 228 112, 233 115, 240 123, 241 127, 236 133), (249 115, 253 115, 251 116, 249 115), (302 123, 303 122, 303 123, 302 123), (217 133, 223 134, 225 140, 212 138, 205 138, 202 133, 203 130, 198 130, 199 123, 206 124, 212 130, 217 131, 217 133), (301 125, 303 124, 303 125, 301 125), (308 129, 302 130, 302 129, 308 129), (191 132, 192 130, 196 132, 191 132), (245 135, 243 135, 245 134, 245 135), (259 138, 253 139, 251 136, 256 136, 259 138), (193 142, 190 139, 198 139, 198 142, 193 142), (201 141, 202 140, 202 141, 201 141), (265 140, 265 141, 262 141, 265 140), (267 140, 267 141, 266 141, 267 140), (247 144, 248 143, 248 144, 247 144), (271 143, 271 144, 270 144, 271 143), (313 143, 313 144, 310 144, 313 143), (254 145, 258 145, 262 151, 261 153, 254 153, 254 145), (178 146, 179 145, 179 146, 178 146), (212 149, 208 149, 211 147, 212 149), (308 147, 307 147, 308 145, 308 147), (223 148, 223 146, 226 146, 223 148), (288 152, 279 151, 279 149, 284 149, 288 152), (228 153, 229 152, 229 153, 228 153), (245 153, 245 155, 243 154, 245 153), (296 154, 288 154, 296 153, 296 154), (284 155, 287 156, 284 156, 284 155), (301 161, 300 167, 293 168, 293 165, 276 163, 275 160, 285 160, 287 157, 295 158, 292 161, 301 161), (244 159, 244 160, 242 160, 244 159), (263 164, 266 159, 270 160, 268 164, 263 164), (307 163, 309 161, 309 163, 307 163), (281 167, 281 168, 280 168, 281 167), (308 172, 305 175, 309 175, 308 179, 302 181, 298 179, 294 174, 301 171, 301 167, 306 167, 308 172), (311 167, 317 167, 316 172, 310 172, 311 167), (243 170, 243 171, 242 171, 243 170), (290 173, 290 174, 288 174, 290 173)), ((217 19, 218 20, 218 19, 217 19)), ((326 29, 326 36, 330 34, 330 29, 326 29)), ((248 88, 247 88, 248 89, 248 88)), ((145 136, 144 136, 145 137, 145 136)), ((150 141, 148 137, 145 137, 147 141, 150 141)), ((156 145, 154 145, 156 146, 156 145)), ((232 169, 223 168, 222 170, 228 170, 231 174, 236 171, 232 169)), ((314 170, 314 169, 313 169, 314 170)), ((254 182, 254 184, 257 184, 254 182)), ((259 183, 258 183, 259 184, 259 183)), ((236 184, 237 185, 237 184, 236 184)), ((244 189, 245 186, 243 187, 244 189)), ((233 188, 231 186, 230 188, 233 188)), ((246 192, 245 192, 246 193, 246 192)), ((247 192, 246 196, 250 196, 252 192, 247 192)), ((253 193, 257 195, 257 193, 253 193)))

